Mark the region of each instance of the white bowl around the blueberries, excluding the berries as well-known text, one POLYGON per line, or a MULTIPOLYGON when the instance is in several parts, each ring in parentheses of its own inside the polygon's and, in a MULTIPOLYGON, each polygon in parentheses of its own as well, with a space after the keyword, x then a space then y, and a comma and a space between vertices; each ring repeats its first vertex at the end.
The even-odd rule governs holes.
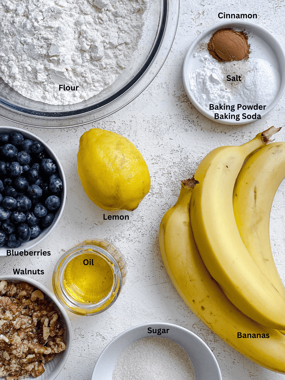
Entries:
POLYGON ((40 141, 43 144, 44 150, 47 152, 47 154, 49 155, 49 157, 52 160, 55 161, 55 163, 57 165, 57 168, 58 168, 59 177, 62 180, 61 205, 60 205, 59 209, 57 210, 57 212, 55 213, 55 217, 54 217, 54 220, 51 223, 51 225, 47 226, 40 233, 40 235, 38 237, 35 237, 34 239, 30 239, 27 242, 23 242, 20 245, 20 247, 17 247, 17 248, 10 248, 10 247, 8 247, 8 245, 5 244, 2 247, 0 247, 0 256, 6 256, 7 249, 11 249, 11 250, 14 249, 14 250, 18 250, 18 251, 24 251, 24 250, 29 251, 32 247, 35 247, 35 245, 40 244, 51 233, 51 231, 54 229, 54 227, 57 225, 57 223, 58 223, 58 221, 59 221, 59 219, 60 219, 60 217, 62 215, 63 208, 64 208, 64 205, 65 205, 65 198, 66 198, 65 176, 64 176, 64 173, 63 173, 62 166, 61 166, 61 164, 59 162, 59 159, 57 158, 57 156, 55 155, 55 153, 46 144, 46 142, 44 142, 42 139, 40 139, 38 136, 34 135, 31 132, 28 132, 28 131, 26 131, 24 129, 20 129, 20 128, 0 126, 0 133, 11 133, 11 132, 15 132, 15 131, 21 133, 24 136, 25 139, 31 139, 33 141, 40 141))

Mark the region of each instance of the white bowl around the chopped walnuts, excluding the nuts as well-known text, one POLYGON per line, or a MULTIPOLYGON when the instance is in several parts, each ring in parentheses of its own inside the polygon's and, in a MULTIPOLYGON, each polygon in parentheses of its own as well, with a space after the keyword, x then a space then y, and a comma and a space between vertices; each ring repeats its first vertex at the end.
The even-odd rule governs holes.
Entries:
MULTIPOLYGON (((64 308, 61 306, 60 302, 56 299, 54 294, 51 293, 44 285, 41 285, 38 281, 32 280, 25 276, 17 276, 17 275, 1 275, 0 281, 6 280, 7 282, 14 282, 19 283, 21 281, 25 281, 31 285, 33 285, 35 288, 38 288, 41 290, 48 301, 52 302, 54 305, 55 310, 59 312, 59 321, 62 324, 62 326, 65 329, 65 332, 63 334, 63 341, 66 344, 66 349, 57 355, 55 355, 54 359, 49 361, 44 365, 45 371, 42 375, 37 377, 39 380, 54 380, 59 372, 62 370, 65 362, 67 361, 68 355, 70 353, 71 349, 71 342, 72 342, 72 328, 70 324, 70 320, 68 318, 67 312, 64 310, 64 308)), ((33 376, 26 377, 26 379, 34 379, 33 376)), ((4 377, 0 377, 0 380, 4 380, 4 377)))

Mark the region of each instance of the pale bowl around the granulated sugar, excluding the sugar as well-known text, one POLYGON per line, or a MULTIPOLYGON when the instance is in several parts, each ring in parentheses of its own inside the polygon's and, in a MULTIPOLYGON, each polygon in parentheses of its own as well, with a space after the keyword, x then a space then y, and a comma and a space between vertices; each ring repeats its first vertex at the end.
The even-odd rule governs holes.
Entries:
POLYGON ((196 380, 222 380, 218 362, 201 338, 172 323, 154 322, 132 327, 111 340, 99 356, 91 380, 112 380, 112 373, 121 353, 136 340, 147 337, 168 338, 180 344, 190 357, 196 380), (167 334, 149 333, 148 328, 169 329, 167 334))

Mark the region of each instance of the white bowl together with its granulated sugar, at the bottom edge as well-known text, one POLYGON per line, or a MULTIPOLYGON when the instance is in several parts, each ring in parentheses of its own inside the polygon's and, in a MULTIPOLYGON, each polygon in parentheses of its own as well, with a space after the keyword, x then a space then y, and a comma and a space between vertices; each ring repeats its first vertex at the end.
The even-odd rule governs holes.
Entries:
POLYGON ((116 336, 102 351, 91 380, 222 380, 210 348, 172 323, 145 323, 116 336))

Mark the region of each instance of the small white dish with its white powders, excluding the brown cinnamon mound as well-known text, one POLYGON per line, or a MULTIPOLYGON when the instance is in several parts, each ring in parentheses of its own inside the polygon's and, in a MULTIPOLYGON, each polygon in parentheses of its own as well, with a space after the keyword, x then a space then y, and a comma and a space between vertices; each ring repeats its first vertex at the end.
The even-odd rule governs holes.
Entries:
POLYGON ((261 119, 285 90, 285 55, 264 28, 245 21, 221 22, 193 42, 184 60, 183 83, 191 103, 215 122, 239 125, 261 119), (219 62, 209 51, 217 31, 242 33, 249 44, 246 59, 219 62))

